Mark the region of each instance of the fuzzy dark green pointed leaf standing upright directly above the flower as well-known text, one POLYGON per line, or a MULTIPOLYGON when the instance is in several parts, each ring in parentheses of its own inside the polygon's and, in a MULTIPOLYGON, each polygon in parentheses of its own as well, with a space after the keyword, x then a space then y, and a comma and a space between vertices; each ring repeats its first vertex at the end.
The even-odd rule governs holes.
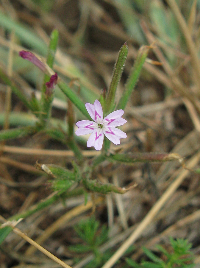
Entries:
POLYGON ((115 66, 113 69, 110 87, 107 92, 106 107, 105 107, 107 113, 110 113, 114 110, 115 94, 116 94, 118 83, 121 79, 121 75, 124 71, 127 54, 128 54, 128 46, 125 43, 119 51, 118 58, 115 62, 115 66))

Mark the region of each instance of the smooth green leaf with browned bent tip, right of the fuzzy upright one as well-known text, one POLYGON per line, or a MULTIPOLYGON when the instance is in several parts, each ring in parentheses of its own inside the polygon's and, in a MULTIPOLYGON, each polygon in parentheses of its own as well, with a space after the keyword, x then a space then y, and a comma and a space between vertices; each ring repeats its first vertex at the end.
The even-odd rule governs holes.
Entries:
POLYGON ((137 80, 139 79, 143 64, 146 60, 150 47, 142 46, 140 47, 137 58, 135 60, 134 66, 130 72, 130 76, 126 82, 124 93, 118 103, 117 109, 123 109, 126 107, 126 104, 131 96, 131 93, 136 85, 137 80))

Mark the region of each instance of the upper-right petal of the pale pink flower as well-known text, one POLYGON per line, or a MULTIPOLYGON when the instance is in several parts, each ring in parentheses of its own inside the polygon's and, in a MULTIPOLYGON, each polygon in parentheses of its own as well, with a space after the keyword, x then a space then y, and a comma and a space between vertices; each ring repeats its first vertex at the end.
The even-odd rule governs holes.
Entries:
POLYGON ((124 118, 121 118, 124 114, 124 110, 116 110, 108 114, 102 121, 104 127, 118 127, 125 124, 127 121, 124 118))

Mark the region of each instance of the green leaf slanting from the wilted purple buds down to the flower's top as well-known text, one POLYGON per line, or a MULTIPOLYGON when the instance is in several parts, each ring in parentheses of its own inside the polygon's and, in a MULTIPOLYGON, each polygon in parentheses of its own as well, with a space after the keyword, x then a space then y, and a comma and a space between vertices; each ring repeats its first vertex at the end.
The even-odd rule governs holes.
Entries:
POLYGON ((89 113, 85 108, 85 104, 79 99, 77 94, 75 94, 71 88, 65 84, 63 81, 59 81, 58 84, 59 88, 62 92, 71 100, 72 103, 82 112, 83 115, 89 120, 91 120, 89 113))

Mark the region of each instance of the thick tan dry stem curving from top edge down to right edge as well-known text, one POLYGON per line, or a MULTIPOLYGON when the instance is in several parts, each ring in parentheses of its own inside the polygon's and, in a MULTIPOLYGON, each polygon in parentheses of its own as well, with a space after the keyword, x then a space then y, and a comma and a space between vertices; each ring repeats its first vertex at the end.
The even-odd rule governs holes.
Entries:
POLYGON ((177 22, 182 30, 182 33, 185 37, 185 41, 187 44, 188 51, 191 56, 191 61, 193 65, 193 70, 196 73, 196 79, 197 79, 197 86, 200 84, 200 61, 197 54, 197 49, 193 43, 192 36, 190 34, 189 28, 187 27, 186 21, 181 14, 181 11, 176 3, 175 0, 166 0, 168 5, 171 7, 171 10, 173 11, 177 22))

